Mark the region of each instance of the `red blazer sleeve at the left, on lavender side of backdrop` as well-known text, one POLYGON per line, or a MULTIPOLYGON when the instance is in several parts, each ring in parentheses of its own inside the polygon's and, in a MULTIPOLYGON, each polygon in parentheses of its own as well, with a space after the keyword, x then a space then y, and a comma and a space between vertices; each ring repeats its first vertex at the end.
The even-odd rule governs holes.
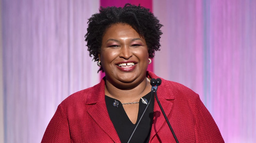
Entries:
POLYGON ((61 104, 58 106, 53 118, 49 122, 44 132, 41 143, 70 143, 70 133, 68 126, 68 118, 63 112, 61 104))

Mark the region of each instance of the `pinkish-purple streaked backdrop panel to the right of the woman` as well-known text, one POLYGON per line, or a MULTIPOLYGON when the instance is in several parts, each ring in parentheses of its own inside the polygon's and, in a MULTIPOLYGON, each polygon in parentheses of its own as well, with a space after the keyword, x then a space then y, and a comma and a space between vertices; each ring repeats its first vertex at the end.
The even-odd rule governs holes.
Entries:
POLYGON ((256 1, 153 0, 154 71, 200 95, 227 143, 256 141, 256 1))

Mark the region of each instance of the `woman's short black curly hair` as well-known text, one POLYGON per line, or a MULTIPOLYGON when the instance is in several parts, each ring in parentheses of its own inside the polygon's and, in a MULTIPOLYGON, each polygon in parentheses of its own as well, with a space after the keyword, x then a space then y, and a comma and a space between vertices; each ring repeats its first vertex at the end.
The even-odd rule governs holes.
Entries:
MULTIPOLYGON (((90 57, 93 56, 94 62, 99 60, 101 42, 104 32, 108 27, 116 23, 131 25, 134 30, 142 36, 148 46, 149 58, 155 56, 155 51, 160 49, 160 35, 163 26, 159 20, 149 11, 148 8, 140 5, 126 3, 124 7, 100 7, 99 13, 93 14, 88 19, 87 33, 84 36, 90 57)), ((103 70, 102 67, 98 70, 103 70)))

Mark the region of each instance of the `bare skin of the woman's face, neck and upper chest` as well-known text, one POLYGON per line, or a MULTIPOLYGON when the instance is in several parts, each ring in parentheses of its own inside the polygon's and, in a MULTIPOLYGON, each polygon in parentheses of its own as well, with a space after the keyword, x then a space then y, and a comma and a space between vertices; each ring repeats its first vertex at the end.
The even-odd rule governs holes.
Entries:
MULTIPOLYGON (((145 39, 132 26, 119 23, 106 30, 102 38, 99 61, 106 72, 105 95, 126 103, 139 101, 150 92, 151 85, 146 78, 148 47, 145 39)), ((135 124, 138 104, 123 108, 135 124)))

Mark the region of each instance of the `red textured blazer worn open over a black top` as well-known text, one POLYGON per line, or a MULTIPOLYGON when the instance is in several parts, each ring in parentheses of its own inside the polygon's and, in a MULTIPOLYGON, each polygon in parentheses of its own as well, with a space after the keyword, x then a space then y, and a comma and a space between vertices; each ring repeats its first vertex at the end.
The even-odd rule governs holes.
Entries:
MULTIPOLYGON (((159 78, 150 71, 147 75, 159 78)), ((63 100, 46 128, 42 143, 120 143, 108 116, 104 85, 101 80, 63 100)), ((180 143, 224 142, 212 116, 192 90, 162 79, 157 94, 180 143)), ((149 142, 175 143, 156 101, 149 142)))

